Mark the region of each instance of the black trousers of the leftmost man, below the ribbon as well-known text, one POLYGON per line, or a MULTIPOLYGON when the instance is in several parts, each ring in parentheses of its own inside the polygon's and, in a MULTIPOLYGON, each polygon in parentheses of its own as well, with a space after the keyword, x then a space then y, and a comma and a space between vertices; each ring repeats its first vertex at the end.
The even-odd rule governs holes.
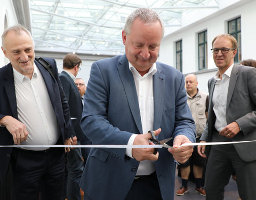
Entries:
POLYGON ((62 199, 64 184, 65 151, 52 148, 33 151, 13 148, 14 199, 62 199))

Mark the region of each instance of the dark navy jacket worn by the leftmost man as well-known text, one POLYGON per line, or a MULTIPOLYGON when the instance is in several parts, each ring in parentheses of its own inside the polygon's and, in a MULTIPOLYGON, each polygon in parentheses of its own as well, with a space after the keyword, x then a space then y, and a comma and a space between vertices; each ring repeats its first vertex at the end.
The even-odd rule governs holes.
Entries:
MULTIPOLYGON (((62 143, 64 143, 65 139, 70 138, 71 133, 74 132, 71 126, 68 102, 61 87, 55 60, 44 59, 51 64, 54 74, 56 75, 56 79, 53 79, 49 72, 36 60, 35 63, 44 78, 52 107, 57 117, 57 122, 62 136, 62 143)), ((13 69, 11 63, 0 68, 0 105, 0 118, 10 115, 18 119, 17 101, 15 97, 13 69)), ((12 135, 5 127, 0 127, 0 135, 0 145, 13 145, 12 135)), ((6 175, 11 153, 12 148, 0 148, 0 182, 4 180, 6 175)))

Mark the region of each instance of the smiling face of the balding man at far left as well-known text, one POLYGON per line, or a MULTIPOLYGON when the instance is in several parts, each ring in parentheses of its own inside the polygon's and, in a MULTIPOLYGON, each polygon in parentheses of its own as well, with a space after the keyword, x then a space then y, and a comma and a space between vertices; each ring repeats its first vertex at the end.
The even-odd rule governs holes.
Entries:
POLYGON ((2 50, 14 69, 31 78, 34 71, 34 43, 25 31, 20 30, 20 33, 16 33, 10 30, 5 37, 2 50))

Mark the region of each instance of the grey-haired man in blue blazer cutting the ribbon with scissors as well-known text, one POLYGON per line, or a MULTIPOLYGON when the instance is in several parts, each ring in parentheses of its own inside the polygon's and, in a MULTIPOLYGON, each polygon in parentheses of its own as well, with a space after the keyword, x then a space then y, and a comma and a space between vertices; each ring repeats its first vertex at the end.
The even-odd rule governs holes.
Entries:
MULTIPOLYGON (((93 144, 153 145, 173 137, 174 149, 93 148, 81 179, 85 199, 173 199, 175 162, 185 163, 195 142, 185 81, 156 62, 164 35, 162 19, 137 9, 126 20, 126 54, 94 62, 85 93, 82 130, 93 144)), ((172 142, 170 142, 172 145, 172 142)))

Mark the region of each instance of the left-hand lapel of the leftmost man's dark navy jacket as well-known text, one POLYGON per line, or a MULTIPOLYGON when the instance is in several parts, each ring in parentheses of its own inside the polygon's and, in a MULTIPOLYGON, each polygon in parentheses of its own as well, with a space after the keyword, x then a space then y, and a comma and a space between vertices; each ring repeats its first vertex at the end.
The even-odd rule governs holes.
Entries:
POLYGON ((17 101, 16 101, 16 96, 15 96, 14 77, 13 77, 13 69, 12 69, 11 63, 9 63, 6 68, 4 87, 5 87, 9 102, 10 102, 13 117, 18 119, 17 101))

